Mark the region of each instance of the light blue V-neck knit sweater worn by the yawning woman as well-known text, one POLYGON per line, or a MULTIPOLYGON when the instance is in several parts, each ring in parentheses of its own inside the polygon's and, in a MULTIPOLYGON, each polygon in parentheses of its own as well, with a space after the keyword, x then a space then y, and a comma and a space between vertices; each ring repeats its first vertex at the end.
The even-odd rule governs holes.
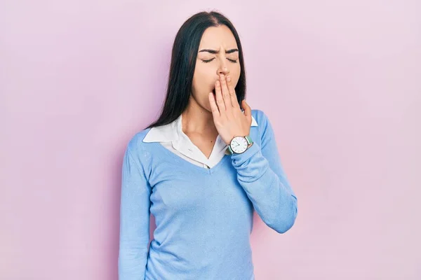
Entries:
POLYGON ((253 209, 276 232, 289 230, 297 197, 283 172, 274 131, 252 110, 254 144, 210 169, 159 143, 128 143, 123 158, 119 280, 252 280, 253 209), (149 243, 149 215, 156 221, 149 243))

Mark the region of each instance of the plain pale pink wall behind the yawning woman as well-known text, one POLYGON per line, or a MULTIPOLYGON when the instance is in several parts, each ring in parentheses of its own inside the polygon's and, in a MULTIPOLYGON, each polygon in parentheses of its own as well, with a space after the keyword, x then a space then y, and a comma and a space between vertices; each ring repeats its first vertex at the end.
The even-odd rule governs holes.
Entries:
POLYGON ((255 214, 256 279, 421 279, 418 0, 1 1, 0 279, 117 279, 124 148, 210 8, 298 195, 285 235, 255 214))

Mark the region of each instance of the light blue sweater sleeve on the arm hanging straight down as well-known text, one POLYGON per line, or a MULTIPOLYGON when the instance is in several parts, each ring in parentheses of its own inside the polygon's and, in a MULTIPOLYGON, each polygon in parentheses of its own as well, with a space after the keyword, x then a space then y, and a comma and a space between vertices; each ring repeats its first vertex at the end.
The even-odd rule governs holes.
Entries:
POLYGON ((128 146, 121 178, 119 280, 145 279, 151 188, 138 158, 128 146))

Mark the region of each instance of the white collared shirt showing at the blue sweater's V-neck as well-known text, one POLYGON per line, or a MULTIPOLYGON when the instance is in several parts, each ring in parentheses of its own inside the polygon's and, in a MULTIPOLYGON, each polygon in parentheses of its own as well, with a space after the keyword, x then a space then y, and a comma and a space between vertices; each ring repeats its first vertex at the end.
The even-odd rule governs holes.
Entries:
MULTIPOLYGON (((251 127, 257 127, 253 116, 251 117, 251 127)), ((159 127, 152 127, 147 133, 144 142, 159 142, 162 146, 180 156, 181 158, 192 162, 204 168, 212 168, 222 160, 228 145, 224 143, 220 135, 216 138, 213 150, 209 158, 193 144, 189 137, 182 131, 182 115, 168 125, 161 125, 159 127)))

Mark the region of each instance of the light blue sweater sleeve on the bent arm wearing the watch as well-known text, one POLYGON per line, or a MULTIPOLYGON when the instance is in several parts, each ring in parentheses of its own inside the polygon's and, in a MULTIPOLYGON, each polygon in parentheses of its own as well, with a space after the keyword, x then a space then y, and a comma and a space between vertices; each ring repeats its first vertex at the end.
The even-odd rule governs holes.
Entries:
POLYGON ((261 146, 254 141, 246 152, 231 155, 232 165, 262 221, 276 232, 284 233, 295 223, 297 197, 283 171, 269 118, 262 111, 256 111, 260 116, 259 127, 262 127, 261 146))

